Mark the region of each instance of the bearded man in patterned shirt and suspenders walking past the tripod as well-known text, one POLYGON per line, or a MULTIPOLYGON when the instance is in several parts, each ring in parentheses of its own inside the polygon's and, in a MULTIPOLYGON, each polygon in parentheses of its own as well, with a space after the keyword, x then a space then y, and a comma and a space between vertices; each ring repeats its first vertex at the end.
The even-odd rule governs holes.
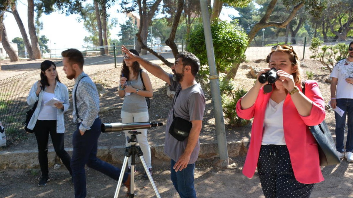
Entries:
MULTIPOLYGON (((73 152, 71 158, 75 197, 86 197, 85 165, 109 177, 119 180, 120 168, 97 158, 98 138, 101 134, 101 120, 98 117, 99 96, 92 79, 83 72, 84 58, 77 49, 61 52, 66 77, 75 79, 72 89, 73 122, 76 131, 72 134, 73 152)), ((122 182, 130 192, 130 174, 125 173, 122 182)))

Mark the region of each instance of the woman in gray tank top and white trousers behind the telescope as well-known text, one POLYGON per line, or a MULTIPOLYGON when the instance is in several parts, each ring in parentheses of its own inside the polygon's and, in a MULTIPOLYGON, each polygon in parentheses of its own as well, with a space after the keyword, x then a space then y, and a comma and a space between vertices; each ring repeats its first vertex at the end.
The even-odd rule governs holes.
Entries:
MULTIPOLYGON (((139 56, 136 50, 130 49, 130 51, 139 56)), ((140 70, 140 64, 138 62, 129 61, 128 57, 124 56, 120 75, 120 87, 118 92, 121 98, 124 97, 124 103, 122 104, 121 109, 121 120, 123 123, 147 122, 149 120, 145 97, 152 97, 153 90, 148 74, 142 70, 141 72, 143 79, 141 79, 140 70), (145 86, 145 90, 143 84, 145 86)), ((146 161, 146 164, 151 173, 151 150, 147 140, 147 129, 140 129, 138 131, 141 132, 141 134, 136 136, 137 142, 140 145, 140 148, 143 152, 143 158, 146 161)), ((130 137, 128 131, 125 131, 125 137, 130 137)), ((130 143, 127 141, 126 146, 130 146, 130 143)), ((128 160, 127 172, 131 172, 130 158, 128 160)), ((148 179, 146 174, 144 177, 148 179)))

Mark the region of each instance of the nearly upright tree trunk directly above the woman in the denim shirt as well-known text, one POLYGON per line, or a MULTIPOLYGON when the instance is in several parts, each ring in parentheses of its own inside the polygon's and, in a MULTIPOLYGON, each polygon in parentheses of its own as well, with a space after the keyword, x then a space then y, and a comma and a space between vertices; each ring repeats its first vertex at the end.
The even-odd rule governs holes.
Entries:
POLYGON ((36 27, 34 25, 34 2, 33 0, 27 0, 28 2, 28 33, 31 38, 33 57, 40 59, 42 58, 41 50, 39 48, 38 38, 36 34, 36 27))

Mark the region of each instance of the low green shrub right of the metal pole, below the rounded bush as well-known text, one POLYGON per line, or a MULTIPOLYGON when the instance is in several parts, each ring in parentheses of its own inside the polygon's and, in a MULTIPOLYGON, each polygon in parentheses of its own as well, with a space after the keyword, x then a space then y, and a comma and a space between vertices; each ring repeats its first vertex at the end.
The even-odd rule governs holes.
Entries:
POLYGON ((244 126, 250 123, 250 120, 245 120, 237 116, 235 111, 238 100, 246 94, 246 90, 234 90, 232 81, 220 81, 222 108, 225 117, 229 120, 231 126, 244 126))

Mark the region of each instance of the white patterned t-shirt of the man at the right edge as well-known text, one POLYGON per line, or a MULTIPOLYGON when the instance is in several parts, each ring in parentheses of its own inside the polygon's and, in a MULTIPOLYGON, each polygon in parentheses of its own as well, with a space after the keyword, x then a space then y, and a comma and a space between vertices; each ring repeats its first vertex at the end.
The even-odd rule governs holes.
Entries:
POLYGON ((336 98, 353 99, 353 85, 346 82, 346 78, 353 78, 353 62, 347 58, 336 63, 330 77, 337 78, 336 98))

